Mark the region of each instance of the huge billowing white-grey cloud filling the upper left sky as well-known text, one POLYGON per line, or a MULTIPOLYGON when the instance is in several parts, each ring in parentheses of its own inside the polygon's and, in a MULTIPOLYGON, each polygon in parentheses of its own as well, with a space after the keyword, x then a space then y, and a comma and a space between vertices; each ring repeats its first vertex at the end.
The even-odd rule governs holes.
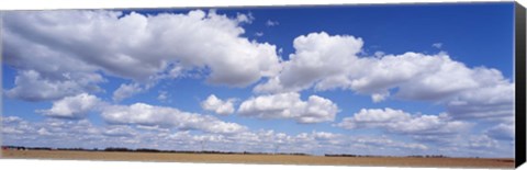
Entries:
POLYGON ((26 92, 35 91, 26 84, 32 81, 20 80, 9 93, 24 100, 59 99, 97 84, 101 72, 145 82, 173 77, 173 65, 179 72, 205 70, 210 83, 246 87, 280 69, 274 45, 242 37, 240 23, 250 21, 244 14, 228 18, 200 10, 156 15, 101 10, 7 12, 2 55, 20 70, 19 77, 32 70, 42 77, 33 76, 34 84, 72 83, 68 94, 42 89, 52 92, 41 93, 53 93, 44 95, 26 92))

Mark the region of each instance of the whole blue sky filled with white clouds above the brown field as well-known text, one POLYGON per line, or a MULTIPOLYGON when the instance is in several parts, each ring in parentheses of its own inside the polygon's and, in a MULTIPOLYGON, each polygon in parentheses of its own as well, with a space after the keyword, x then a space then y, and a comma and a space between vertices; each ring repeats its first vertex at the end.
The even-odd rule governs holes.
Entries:
POLYGON ((513 9, 4 12, 2 141, 514 157, 513 9))

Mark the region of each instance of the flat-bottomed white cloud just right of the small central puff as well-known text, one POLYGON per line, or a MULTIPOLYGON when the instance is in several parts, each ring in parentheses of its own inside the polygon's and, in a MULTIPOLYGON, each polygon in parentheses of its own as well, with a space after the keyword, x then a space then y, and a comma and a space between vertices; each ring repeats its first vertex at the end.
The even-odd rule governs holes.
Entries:
POLYGON ((259 118, 292 118, 298 123, 322 123, 335 120, 338 106, 328 99, 311 95, 302 101, 299 93, 260 95, 244 101, 238 114, 259 118))

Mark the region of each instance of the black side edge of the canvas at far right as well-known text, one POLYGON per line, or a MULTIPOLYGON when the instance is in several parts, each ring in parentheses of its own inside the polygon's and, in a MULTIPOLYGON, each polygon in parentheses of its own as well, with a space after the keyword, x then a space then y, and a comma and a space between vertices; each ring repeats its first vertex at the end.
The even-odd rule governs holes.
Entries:
POLYGON ((515 165, 525 162, 526 157, 526 14, 525 8, 515 2, 515 165))

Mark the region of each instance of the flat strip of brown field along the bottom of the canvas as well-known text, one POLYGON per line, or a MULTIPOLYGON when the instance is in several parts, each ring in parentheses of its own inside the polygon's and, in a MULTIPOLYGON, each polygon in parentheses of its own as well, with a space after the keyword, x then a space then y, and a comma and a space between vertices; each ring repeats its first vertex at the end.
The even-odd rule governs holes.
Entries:
POLYGON ((514 159, 475 158, 352 158, 284 155, 218 155, 162 152, 106 152, 64 150, 2 150, 3 158, 131 160, 264 165, 326 165, 386 167, 514 168, 514 159))

